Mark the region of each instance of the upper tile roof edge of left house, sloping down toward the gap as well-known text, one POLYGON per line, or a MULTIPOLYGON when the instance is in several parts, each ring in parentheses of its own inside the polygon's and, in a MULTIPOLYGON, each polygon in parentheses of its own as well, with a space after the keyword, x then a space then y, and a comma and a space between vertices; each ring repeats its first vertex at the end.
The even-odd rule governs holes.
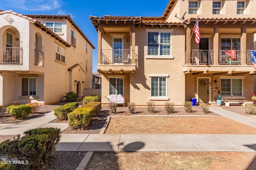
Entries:
POLYGON ((75 28, 76 30, 84 37, 84 39, 90 44, 90 46, 95 49, 92 42, 86 37, 86 35, 83 33, 83 31, 76 25, 74 20, 70 17, 70 15, 27 15, 31 18, 53 18, 53 19, 66 19, 68 20, 75 28))

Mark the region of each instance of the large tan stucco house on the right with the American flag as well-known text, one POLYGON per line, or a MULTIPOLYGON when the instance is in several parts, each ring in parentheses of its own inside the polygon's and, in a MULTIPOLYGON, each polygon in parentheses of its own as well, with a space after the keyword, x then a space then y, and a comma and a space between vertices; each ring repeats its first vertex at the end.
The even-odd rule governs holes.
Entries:
POLYGON ((250 101, 255 8, 255 0, 170 0, 161 17, 90 16, 98 31, 102 103, 110 94, 136 105, 183 105, 193 97, 214 103, 218 88, 224 99, 250 101), (185 12, 185 21, 177 18, 185 12), (196 18, 199 44, 194 34, 189 42, 196 18))

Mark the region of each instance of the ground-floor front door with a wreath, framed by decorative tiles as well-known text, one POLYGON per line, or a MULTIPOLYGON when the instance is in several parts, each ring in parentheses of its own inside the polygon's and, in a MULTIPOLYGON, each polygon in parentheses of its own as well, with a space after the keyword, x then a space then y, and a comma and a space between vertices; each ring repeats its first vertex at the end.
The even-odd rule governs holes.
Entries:
POLYGON ((199 78, 198 79, 198 102, 208 103, 209 102, 209 79, 199 78))

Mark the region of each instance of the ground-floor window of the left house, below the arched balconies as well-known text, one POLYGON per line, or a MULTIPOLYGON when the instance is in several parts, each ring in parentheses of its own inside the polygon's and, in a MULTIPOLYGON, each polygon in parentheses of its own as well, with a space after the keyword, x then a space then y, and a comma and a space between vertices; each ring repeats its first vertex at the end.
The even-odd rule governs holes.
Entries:
POLYGON ((22 96, 36 96, 36 78, 22 78, 22 96))

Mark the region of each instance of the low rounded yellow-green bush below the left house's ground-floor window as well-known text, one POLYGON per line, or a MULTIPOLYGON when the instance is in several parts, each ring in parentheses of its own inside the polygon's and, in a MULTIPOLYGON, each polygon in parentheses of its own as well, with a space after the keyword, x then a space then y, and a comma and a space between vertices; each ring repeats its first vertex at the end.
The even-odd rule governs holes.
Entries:
POLYGON ((27 117, 32 110, 32 106, 28 106, 26 104, 21 104, 18 106, 8 106, 8 112, 12 117, 15 117, 16 119, 24 119, 27 117))

